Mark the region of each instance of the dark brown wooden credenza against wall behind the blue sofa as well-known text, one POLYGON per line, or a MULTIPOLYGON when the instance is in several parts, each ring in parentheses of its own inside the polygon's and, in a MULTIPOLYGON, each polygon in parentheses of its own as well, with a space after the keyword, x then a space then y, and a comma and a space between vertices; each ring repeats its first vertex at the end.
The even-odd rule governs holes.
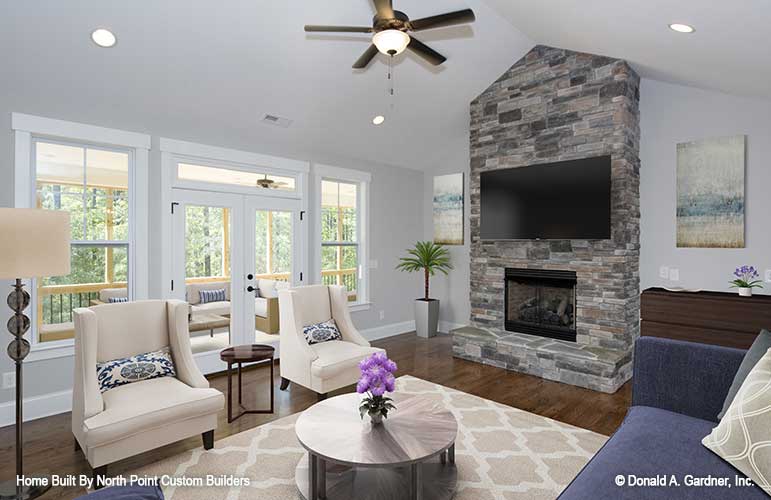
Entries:
POLYGON ((771 331, 771 296, 669 292, 649 288, 640 298, 640 334, 747 349, 771 331))

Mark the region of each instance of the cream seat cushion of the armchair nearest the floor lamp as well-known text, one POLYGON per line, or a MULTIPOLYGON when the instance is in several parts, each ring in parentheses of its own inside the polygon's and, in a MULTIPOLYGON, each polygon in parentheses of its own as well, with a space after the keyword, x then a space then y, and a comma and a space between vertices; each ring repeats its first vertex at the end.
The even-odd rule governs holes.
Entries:
POLYGON ((83 422, 89 447, 217 413, 225 404, 218 390, 196 389, 173 377, 116 387, 102 398, 104 411, 83 422))

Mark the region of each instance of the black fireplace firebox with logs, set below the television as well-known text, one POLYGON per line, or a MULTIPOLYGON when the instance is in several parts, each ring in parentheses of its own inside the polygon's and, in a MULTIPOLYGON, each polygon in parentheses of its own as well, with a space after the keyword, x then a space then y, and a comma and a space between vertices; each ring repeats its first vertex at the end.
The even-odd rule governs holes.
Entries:
POLYGON ((506 268, 506 330, 576 341, 576 273, 506 268))

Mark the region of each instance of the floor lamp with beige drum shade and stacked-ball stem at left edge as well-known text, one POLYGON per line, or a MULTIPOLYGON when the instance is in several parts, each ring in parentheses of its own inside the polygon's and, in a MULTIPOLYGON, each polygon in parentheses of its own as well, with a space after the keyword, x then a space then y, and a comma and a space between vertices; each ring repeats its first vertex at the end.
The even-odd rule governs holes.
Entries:
MULTIPOLYGON (((8 356, 16 364, 16 478, 24 475, 22 439, 23 381, 22 362, 29 354, 24 334, 30 321, 24 315, 29 293, 22 278, 63 276, 70 273, 70 214, 54 210, 0 208, 0 279, 15 280, 8 295, 13 316, 8 330, 14 339, 8 344, 8 356)), ((30 477, 30 476, 27 476, 30 477)), ((0 485, 0 499, 37 498, 50 486, 23 486, 17 480, 0 485)))

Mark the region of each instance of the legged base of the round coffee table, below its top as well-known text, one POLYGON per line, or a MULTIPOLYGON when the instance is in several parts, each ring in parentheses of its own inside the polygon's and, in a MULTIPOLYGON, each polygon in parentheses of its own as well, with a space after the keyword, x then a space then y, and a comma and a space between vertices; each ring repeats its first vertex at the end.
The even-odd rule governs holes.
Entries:
POLYGON ((306 500, 447 500, 455 495, 458 483, 454 451, 450 457, 445 452, 420 464, 394 468, 351 468, 315 458, 315 472, 308 467, 306 453, 295 469, 295 481, 306 500), (311 477, 316 478, 316 499, 309 493, 311 477))

